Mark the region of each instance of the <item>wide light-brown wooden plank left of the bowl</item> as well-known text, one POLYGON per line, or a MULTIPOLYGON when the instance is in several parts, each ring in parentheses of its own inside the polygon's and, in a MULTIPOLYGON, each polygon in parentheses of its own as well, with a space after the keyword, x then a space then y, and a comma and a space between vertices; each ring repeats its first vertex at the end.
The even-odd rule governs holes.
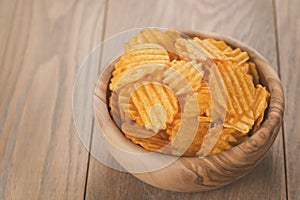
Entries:
POLYGON ((18 0, 11 21, 0 13, 9 30, 0 38, 0 199, 84 197, 88 152, 74 128, 72 88, 101 41, 104 4, 18 0))

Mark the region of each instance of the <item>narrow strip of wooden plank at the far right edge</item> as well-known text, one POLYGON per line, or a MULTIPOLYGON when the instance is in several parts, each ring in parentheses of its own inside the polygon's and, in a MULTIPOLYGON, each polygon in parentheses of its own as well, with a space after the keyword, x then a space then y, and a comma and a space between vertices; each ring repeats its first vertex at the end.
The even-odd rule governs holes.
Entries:
POLYGON ((280 74, 285 90, 284 136, 289 199, 300 199, 300 2, 276 1, 280 74))

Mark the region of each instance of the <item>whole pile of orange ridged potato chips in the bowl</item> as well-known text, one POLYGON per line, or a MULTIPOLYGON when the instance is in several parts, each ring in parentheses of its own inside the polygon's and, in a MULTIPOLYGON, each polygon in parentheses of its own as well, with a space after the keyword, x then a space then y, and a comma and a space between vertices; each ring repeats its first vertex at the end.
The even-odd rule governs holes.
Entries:
POLYGON ((144 29, 114 65, 112 118, 126 138, 149 151, 199 156, 228 150, 259 128, 268 106, 269 93, 249 60, 224 41, 144 29), (221 116, 219 131, 208 134, 221 116))

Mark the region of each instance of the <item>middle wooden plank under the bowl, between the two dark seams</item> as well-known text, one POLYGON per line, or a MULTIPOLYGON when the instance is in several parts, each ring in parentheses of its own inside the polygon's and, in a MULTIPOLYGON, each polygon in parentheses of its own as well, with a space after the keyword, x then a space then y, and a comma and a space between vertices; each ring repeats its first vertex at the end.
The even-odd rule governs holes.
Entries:
MULTIPOLYGON (((260 51, 277 69, 272 1, 117 1, 108 5, 105 37, 146 26, 214 31, 260 51)), ((94 133, 95 134, 95 133, 94 133)), ((270 153, 240 181, 204 193, 175 193, 149 186, 91 158, 88 199, 285 199, 282 132, 270 153)))

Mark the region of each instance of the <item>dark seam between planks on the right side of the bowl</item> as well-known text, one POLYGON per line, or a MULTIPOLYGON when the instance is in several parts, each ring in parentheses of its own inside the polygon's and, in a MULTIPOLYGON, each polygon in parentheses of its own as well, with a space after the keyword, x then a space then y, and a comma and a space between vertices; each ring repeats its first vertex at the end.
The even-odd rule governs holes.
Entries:
MULTIPOLYGON (((273 23, 275 28, 275 45, 276 45, 276 62, 278 66, 278 76, 281 79, 281 61, 280 61, 280 51, 279 51, 279 37, 278 37, 278 18, 277 18, 277 8, 275 0, 272 0, 273 5, 273 23)), ((288 176, 287 176, 287 159, 286 159, 286 148, 285 148, 285 128, 284 128, 284 119, 282 121, 282 145, 283 145, 283 160, 284 160, 284 177, 285 177, 285 195, 286 199, 289 199, 289 190, 288 190, 288 176)))

